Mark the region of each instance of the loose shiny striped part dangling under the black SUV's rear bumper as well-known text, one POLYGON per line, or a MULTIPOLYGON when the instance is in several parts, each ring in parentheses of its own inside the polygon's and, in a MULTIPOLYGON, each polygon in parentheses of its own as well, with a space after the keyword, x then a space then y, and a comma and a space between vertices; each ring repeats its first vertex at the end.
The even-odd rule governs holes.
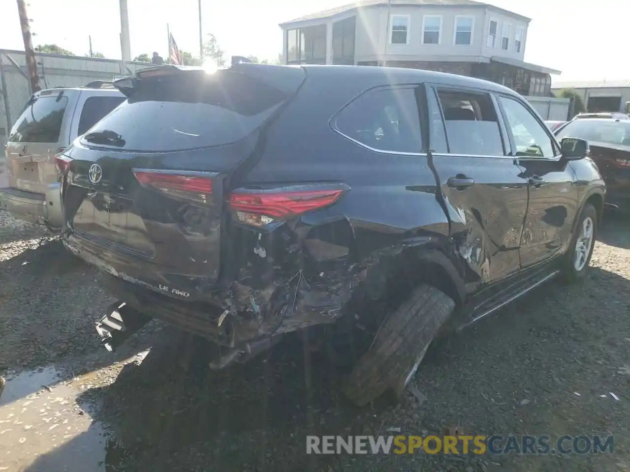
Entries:
POLYGON ((113 351, 123 344, 132 334, 151 320, 122 301, 112 303, 107 313, 109 314, 101 318, 95 325, 96 332, 108 351, 113 351))

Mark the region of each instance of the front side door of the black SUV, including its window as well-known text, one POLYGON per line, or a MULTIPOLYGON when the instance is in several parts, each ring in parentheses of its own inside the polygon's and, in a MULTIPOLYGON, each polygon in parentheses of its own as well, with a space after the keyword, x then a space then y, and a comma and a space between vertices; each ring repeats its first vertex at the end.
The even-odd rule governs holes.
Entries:
POLYGON ((520 247, 523 267, 563 253, 571 239, 578 205, 575 173, 563 159, 547 126, 525 102, 498 96, 513 155, 529 186, 529 208, 520 247))

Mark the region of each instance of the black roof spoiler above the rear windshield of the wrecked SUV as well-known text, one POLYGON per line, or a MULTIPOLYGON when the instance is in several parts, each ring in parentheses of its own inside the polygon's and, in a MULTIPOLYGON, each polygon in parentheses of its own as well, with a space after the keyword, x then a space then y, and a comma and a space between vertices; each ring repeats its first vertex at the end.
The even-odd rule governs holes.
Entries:
MULTIPOLYGON (((200 66, 164 64, 154 67, 145 67, 135 72, 133 76, 123 77, 113 82, 113 86, 120 90, 127 98, 132 96, 142 81, 159 79, 159 77, 175 76, 176 74, 206 74, 207 70, 200 66)), ((216 73, 239 72, 250 77, 260 79, 277 89, 293 93, 299 87, 306 72, 301 67, 286 65, 253 64, 251 60, 243 56, 232 56, 231 67, 219 69, 216 73)))

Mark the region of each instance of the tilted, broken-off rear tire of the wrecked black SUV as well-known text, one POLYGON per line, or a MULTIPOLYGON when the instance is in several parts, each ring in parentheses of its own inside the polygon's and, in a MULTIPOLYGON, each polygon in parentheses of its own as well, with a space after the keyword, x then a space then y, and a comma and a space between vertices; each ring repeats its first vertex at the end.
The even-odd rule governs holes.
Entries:
POLYGON ((359 406, 374 401, 389 388, 400 395, 454 308, 452 298, 431 285, 414 289, 387 316, 369 351, 350 373, 344 393, 359 406))

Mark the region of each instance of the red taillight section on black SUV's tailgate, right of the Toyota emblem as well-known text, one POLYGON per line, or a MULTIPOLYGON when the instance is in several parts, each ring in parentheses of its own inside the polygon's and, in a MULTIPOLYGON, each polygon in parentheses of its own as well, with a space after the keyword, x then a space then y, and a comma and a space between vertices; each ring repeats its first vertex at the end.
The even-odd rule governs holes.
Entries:
POLYGON ((209 203, 212 198, 212 176, 207 173, 134 170, 134 175, 143 186, 176 198, 198 203, 209 203))

